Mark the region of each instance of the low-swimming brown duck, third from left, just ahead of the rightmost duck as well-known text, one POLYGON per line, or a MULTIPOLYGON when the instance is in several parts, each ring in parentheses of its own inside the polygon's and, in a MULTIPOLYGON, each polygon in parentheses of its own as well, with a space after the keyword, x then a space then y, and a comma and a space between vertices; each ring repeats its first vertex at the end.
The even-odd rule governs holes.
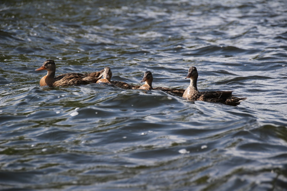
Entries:
POLYGON ((169 94, 175 94, 179 97, 182 97, 183 92, 185 91, 184 89, 166 88, 166 87, 155 87, 155 88, 153 88, 152 87, 152 81, 153 81, 152 72, 146 71, 144 73, 143 79, 141 80, 141 82, 145 82, 145 84, 140 86, 138 89, 139 90, 160 90, 160 91, 167 92, 169 94))

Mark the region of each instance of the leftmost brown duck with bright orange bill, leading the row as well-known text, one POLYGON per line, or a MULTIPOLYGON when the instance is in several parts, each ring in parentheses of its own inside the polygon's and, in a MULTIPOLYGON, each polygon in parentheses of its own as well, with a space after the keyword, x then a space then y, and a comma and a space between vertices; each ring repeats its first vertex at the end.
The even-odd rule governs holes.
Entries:
POLYGON ((99 72, 92 72, 88 74, 80 73, 67 73, 61 74, 55 77, 56 64, 53 60, 46 60, 40 68, 35 71, 47 70, 47 75, 40 80, 40 86, 73 86, 73 85, 85 85, 89 83, 95 83, 103 75, 104 70, 99 72))

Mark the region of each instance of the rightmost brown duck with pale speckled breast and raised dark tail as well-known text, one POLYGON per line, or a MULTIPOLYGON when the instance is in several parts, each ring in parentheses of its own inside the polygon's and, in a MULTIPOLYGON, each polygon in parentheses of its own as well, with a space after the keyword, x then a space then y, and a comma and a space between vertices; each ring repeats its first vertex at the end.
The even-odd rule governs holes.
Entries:
MULTIPOLYGON (((200 92, 197 90, 197 78, 198 72, 196 67, 191 66, 188 70, 188 74, 185 77, 190 79, 190 84, 188 88, 183 93, 183 98, 199 101, 208 101, 215 103, 223 103, 225 105, 236 106, 239 105, 241 101, 247 98, 238 98, 232 95, 233 91, 205 91, 200 92)), ((238 95, 236 95, 238 96, 238 95)))

